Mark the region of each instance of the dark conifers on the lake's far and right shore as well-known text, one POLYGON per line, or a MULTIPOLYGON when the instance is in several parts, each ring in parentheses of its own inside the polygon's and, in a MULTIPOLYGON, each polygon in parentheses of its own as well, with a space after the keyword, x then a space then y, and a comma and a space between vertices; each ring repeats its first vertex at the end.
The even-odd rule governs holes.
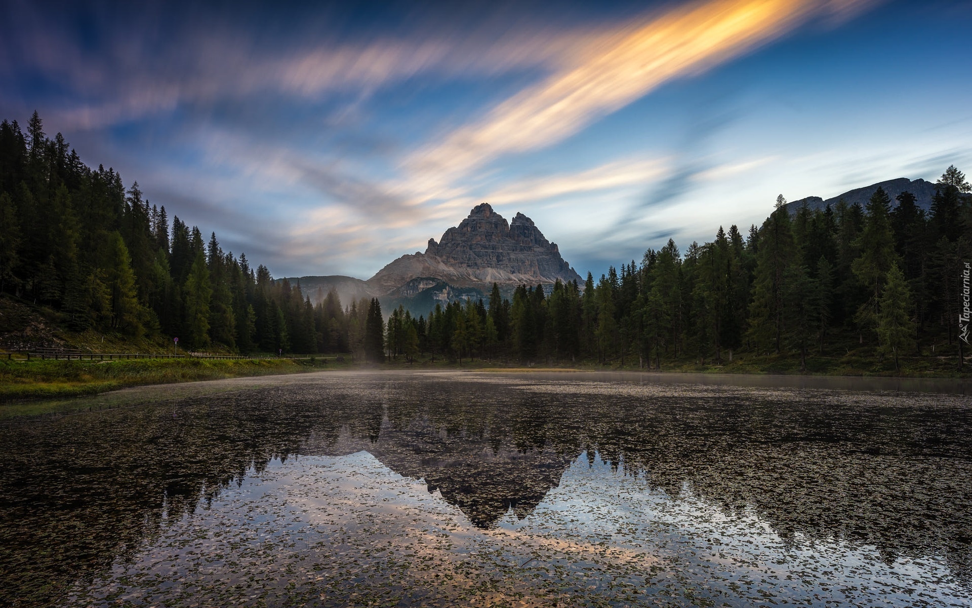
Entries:
POLYGON ((582 287, 520 286, 511 303, 494 286, 488 305, 437 305, 428 322, 399 309, 386 331, 388 351, 660 369, 673 360, 724 362, 744 350, 789 353, 804 370, 808 354, 827 354, 835 343, 841 354, 849 342, 877 347, 896 367, 901 354, 954 351, 955 343, 961 352, 970 190, 950 166, 930 213, 907 192, 892 208, 882 189, 864 208, 804 203, 791 213, 778 197, 745 237, 736 226, 719 228, 711 242, 693 242, 684 253, 669 240, 597 283, 588 273, 582 287))

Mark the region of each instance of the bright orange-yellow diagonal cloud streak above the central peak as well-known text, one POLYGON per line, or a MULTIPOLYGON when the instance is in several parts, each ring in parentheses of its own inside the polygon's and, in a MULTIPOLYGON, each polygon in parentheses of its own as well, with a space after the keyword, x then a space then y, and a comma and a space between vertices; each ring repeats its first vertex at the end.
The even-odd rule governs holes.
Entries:
POLYGON ((426 175, 427 196, 439 196, 434 187, 489 161, 561 141, 663 83, 743 54, 820 11, 857 4, 714 0, 649 18, 606 35, 575 64, 415 152, 404 165, 426 175))

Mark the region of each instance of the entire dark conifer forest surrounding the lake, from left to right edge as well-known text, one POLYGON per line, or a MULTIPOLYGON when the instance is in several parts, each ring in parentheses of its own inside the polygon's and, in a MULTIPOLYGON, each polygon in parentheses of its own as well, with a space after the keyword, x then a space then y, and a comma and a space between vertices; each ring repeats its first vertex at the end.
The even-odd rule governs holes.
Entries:
POLYGON ((494 285, 486 302, 386 317, 377 300, 333 292, 312 304, 215 232, 170 219, 137 182, 88 167, 35 113, 26 132, 0 124, 0 293, 50 307, 71 332, 178 336, 197 351, 649 369, 778 355, 806 370, 808 357, 854 348, 897 368, 901 356, 962 353, 972 189, 955 166, 938 184, 927 213, 880 189, 863 208, 794 213, 778 197, 762 226, 720 227, 683 250, 670 240, 583 285, 520 286, 511 299, 494 285))

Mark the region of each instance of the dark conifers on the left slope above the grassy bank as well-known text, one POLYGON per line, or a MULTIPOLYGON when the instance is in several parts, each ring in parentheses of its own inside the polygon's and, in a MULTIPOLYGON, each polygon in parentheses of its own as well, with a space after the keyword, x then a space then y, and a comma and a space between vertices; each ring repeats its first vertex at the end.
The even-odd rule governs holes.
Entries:
POLYGON ((60 133, 47 137, 36 112, 26 133, 0 123, 0 292, 52 306, 76 332, 178 337, 192 349, 347 352, 364 321, 333 295, 312 305, 215 233, 170 225, 137 182, 125 189, 60 133))

